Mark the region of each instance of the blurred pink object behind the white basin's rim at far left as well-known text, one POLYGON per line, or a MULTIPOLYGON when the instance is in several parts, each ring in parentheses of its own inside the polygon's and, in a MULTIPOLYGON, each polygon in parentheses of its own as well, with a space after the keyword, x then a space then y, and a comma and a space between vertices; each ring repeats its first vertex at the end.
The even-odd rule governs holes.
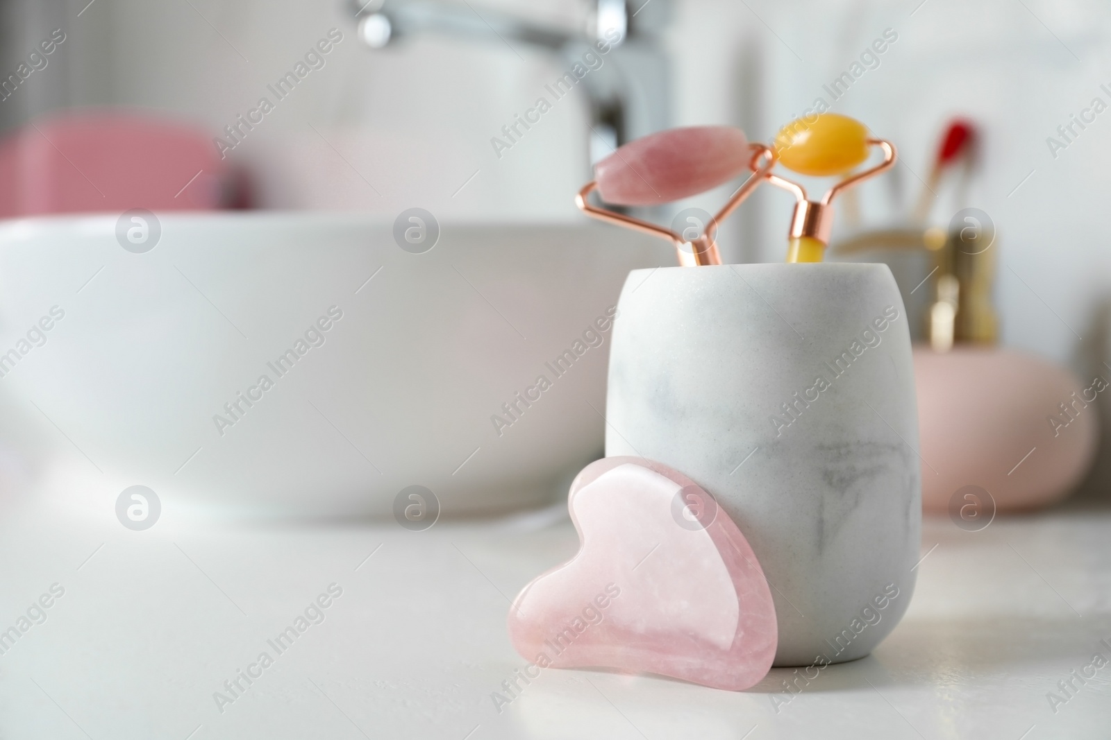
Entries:
POLYGON ((230 182, 204 131, 142 113, 51 115, 0 142, 0 217, 227 207, 230 182))

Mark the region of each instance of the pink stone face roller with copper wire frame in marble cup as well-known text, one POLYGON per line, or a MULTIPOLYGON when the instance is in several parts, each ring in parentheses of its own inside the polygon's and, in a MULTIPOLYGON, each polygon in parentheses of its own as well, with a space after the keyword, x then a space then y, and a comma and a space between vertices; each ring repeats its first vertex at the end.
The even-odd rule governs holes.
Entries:
POLYGON ((750 144, 740 129, 671 129, 624 144, 595 164, 595 179, 579 191, 574 202, 595 219, 671 241, 680 265, 720 265, 713 241, 718 224, 763 181, 772 164, 771 151, 763 144, 750 144), (690 241, 670 229, 587 201, 590 192, 598 190, 602 201, 613 205, 663 205, 717 187, 749 169, 753 174, 710 220, 703 233, 690 241))

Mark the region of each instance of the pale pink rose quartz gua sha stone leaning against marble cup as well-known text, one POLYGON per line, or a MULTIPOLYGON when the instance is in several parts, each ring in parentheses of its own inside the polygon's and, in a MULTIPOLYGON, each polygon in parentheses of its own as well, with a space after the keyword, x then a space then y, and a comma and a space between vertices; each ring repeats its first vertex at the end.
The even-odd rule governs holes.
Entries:
POLYGON ((568 501, 579 553, 517 596, 509 636, 541 668, 600 667, 739 691, 775 657, 768 581, 713 499, 639 457, 588 465, 568 501))

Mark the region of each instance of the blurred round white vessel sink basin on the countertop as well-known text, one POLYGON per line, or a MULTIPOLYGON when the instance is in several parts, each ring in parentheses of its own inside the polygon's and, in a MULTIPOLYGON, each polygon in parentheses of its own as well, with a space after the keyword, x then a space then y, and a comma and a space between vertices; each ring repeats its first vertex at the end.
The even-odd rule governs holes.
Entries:
POLYGON ((444 514, 542 503, 601 454, 609 332, 560 377, 546 363, 629 270, 673 261, 591 223, 447 223, 424 254, 361 215, 168 215, 141 254, 116 225, 0 224, 0 442, 39 475, 252 516, 389 515, 410 485, 444 514))

